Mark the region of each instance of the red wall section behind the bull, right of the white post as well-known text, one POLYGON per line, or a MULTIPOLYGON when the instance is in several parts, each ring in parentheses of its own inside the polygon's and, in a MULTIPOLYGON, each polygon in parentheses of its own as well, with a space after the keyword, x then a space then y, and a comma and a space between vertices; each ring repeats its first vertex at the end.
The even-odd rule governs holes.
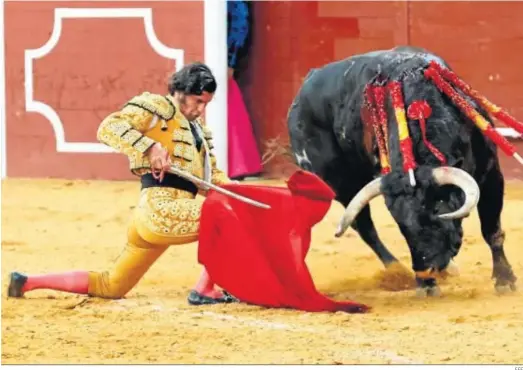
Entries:
MULTIPOLYGON (((263 148, 286 139, 288 107, 312 67, 395 45, 440 54, 473 87, 523 120, 521 2, 256 2, 249 68, 242 79, 263 148)), ((523 143, 517 144, 523 153, 523 143)), ((523 168, 500 154, 509 177, 523 168)), ((269 174, 289 169, 271 161, 269 174)))

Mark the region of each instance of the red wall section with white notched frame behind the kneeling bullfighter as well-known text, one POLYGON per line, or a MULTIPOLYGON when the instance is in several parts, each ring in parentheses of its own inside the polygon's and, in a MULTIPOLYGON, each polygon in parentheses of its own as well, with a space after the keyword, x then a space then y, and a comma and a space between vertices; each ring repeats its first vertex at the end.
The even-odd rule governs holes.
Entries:
MULTIPOLYGON (((7 176, 131 178, 120 154, 57 153, 49 119, 26 111, 24 52, 48 42, 55 8, 152 8, 158 41, 183 49, 187 61, 203 60, 203 3, 5 3, 7 176)), ((151 40, 140 17, 63 19, 56 46, 34 60, 28 88, 56 112, 65 141, 96 143, 100 121, 126 100, 140 91, 167 92, 175 61, 159 55, 151 40)))

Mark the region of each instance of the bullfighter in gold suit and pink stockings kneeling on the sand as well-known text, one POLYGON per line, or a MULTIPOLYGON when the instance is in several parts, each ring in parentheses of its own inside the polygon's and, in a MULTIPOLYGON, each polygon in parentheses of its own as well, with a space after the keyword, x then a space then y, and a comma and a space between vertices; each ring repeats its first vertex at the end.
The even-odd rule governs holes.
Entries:
MULTIPOLYGON (((52 289, 93 297, 124 297, 170 245, 198 240, 206 191, 169 173, 171 166, 208 182, 231 180, 216 165, 212 133, 201 116, 213 99, 217 82, 208 66, 192 63, 175 72, 168 94, 143 92, 100 124, 97 138, 129 158, 141 178, 141 193, 128 226, 127 244, 114 266, 104 272, 73 271, 27 276, 12 272, 9 297, 35 289, 52 289)), ((189 304, 236 302, 215 288, 204 270, 188 297, 189 304)))

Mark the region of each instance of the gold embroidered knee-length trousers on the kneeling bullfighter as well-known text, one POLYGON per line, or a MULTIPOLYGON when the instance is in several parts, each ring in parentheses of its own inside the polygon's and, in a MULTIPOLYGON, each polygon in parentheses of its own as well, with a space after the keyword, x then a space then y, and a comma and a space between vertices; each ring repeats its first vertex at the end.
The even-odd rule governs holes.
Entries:
POLYGON ((170 245, 198 240, 202 203, 178 189, 143 189, 129 225, 127 245, 110 271, 89 272, 89 295, 122 298, 170 245))

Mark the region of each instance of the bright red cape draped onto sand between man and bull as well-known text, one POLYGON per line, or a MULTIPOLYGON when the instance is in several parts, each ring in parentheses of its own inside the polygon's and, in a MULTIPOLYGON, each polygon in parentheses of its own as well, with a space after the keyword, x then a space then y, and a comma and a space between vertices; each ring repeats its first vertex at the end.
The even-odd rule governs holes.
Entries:
POLYGON ((198 261, 216 284, 242 302, 264 307, 311 312, 369 309, 319 293, 305 264, 311 228, 323 219, 335 196, 319 177, 300 170, 290 177, 287 188, 223 187, 271 209, 209 192, 200 219, 198 261))

